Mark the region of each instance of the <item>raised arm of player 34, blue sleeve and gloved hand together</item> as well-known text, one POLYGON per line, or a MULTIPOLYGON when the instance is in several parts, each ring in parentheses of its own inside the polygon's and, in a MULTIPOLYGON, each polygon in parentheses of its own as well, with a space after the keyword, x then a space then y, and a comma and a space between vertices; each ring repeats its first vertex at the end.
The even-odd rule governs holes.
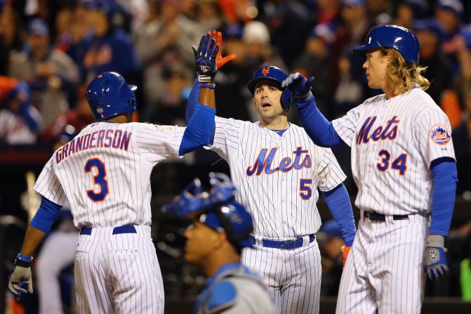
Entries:
POLYGON ((293 93, 293 100, 298 108, 303 127, 314 144, 322 147, 345 144, 333 128, 332 123, 317 108, 314 96, 310 91, 313 82, 314 77, 306 79, 303 74, 295 73, 290 74, 281 86, 293 93))

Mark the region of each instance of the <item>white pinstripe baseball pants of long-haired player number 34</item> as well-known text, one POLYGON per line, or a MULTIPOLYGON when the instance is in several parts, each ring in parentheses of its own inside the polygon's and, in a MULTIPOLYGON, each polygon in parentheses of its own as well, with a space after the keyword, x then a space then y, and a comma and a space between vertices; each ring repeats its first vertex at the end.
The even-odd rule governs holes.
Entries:
POLYGON ((420 313, 425 287, 426 216, 359 221, 337 299, 336 314, 420 313))

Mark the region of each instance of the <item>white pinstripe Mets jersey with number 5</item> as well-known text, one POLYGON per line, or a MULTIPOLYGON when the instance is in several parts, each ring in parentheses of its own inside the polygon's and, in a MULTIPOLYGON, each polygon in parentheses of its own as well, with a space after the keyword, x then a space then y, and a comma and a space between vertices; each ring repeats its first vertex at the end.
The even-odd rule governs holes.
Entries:
POLYGON ((336 188, 345 174, 328 148, 290 124, 282 136, 252 123, 215 118, 212 150, 230 166, 237 200, 251 213, 254 235, 286 239, 316 233, 319 192, 336 188))

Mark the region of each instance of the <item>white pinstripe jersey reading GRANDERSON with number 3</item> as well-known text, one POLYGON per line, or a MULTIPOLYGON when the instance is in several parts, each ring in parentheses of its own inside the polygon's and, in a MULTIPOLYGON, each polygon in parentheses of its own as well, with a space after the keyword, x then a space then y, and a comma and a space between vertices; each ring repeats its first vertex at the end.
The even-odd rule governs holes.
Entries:
POLYGON ((81 228, 150 225, 150 174, 178 157, 185 128, 96 122, 56 150, 34 190, 56 204, 69 202, 81 228))

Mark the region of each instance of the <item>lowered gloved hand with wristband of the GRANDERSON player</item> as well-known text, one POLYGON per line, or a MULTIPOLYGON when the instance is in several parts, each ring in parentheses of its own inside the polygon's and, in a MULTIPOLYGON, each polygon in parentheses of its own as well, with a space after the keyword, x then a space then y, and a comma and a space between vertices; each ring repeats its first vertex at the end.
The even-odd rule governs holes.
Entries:
POLYGON ((21 294, 33 293, 33 282, 31 275, 31 256, 18 254, 15 266, 11 270, 8 280, 8 289, 20 299, 21 294))

